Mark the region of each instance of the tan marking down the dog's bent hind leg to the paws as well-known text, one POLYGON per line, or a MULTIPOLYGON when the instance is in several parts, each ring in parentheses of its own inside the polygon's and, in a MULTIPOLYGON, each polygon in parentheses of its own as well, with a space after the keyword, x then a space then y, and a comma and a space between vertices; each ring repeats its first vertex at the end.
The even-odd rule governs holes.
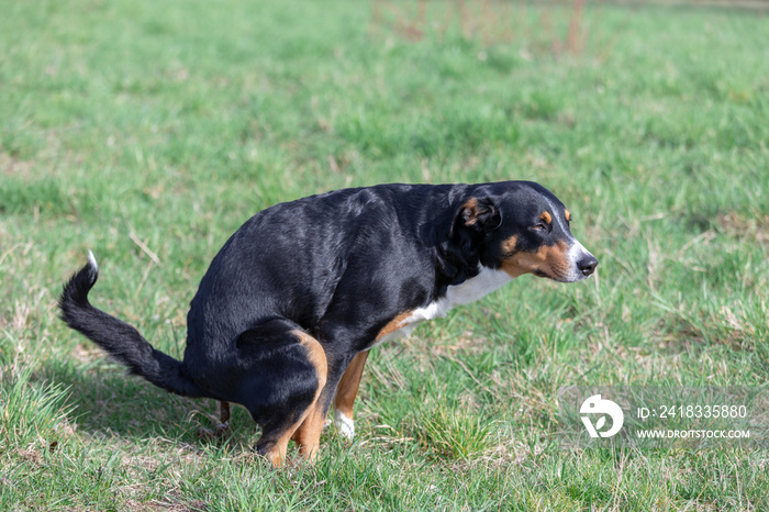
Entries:
POLYGON ((299 450, 305 458, 314 459, 320 445, 321 430, 323 430, 324 418, 320 418, 319 420, 319 416, 322 414, 320 412, 321 408, 319 407, 317 399, 326 385, 326 377, 328 375, 326 354, 325 350, 323 350, 323 346, 320 344, 320 342, 308 333, 299 330, 292 331, 291 333, 297 336, 299 338, 299 343, 301 343, 308 349, 308 359, 312 366, 315 367, 317 390, 315 391, 315 398, 310 407, 302 412, 301 416, 296 423, 289 425, 280 434, 272 447, 267 452, 267 459, 276 468, 279 468, 285 464, 288 443, 292 438, 299 443, 299 450))

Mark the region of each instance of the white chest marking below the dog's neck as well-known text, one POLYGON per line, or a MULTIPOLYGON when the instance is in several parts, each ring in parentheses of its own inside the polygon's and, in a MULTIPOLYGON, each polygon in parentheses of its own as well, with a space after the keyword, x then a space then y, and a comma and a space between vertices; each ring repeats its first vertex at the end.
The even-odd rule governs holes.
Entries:
POLYGON ((502 270, 481 267, 478 276, 466 280, 461 285, 449 286, 444 297, 423 308, 415 309, 411 315, 401 322, 401 326, 398 330, 381 336, 371 346, 406 336, 420 322, 446 316, 446 313, 452 308, 475 302, 512 280, 513 278, 502 270))

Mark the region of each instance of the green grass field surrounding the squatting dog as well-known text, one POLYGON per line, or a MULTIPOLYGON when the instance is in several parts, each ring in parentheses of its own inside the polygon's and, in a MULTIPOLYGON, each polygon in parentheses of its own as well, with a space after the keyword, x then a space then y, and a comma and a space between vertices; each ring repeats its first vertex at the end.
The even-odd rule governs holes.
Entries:
POLYGON ((0 0, 0 509, 769 508, 766 449, 557 436, 564 386, 767 386, 766 13, 588 4, 570 47, 568 7, 430 3, 408 36, 412 3, 0 0), (56 316, 92 248, 92 301, 178 357, 256 211, 504 179, 567 204, 598 275, 524 276, 376 348, 355 441, 328 431, 312 467, 267 468, 239 409, 197 439, 213 401, 126 378, 56 316))

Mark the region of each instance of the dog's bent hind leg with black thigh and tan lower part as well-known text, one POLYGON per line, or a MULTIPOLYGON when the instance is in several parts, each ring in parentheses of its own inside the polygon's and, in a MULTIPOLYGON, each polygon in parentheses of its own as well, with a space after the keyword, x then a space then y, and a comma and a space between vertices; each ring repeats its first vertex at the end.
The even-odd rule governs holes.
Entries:
POLYGON ((327 375, 321 344, 286 320, 252 329, 237 344, 249 367, 241 403, 261 425, 256 450, 279 467, 293 438, 305 458, 314 458, 325 416, 317 407, 327 375))

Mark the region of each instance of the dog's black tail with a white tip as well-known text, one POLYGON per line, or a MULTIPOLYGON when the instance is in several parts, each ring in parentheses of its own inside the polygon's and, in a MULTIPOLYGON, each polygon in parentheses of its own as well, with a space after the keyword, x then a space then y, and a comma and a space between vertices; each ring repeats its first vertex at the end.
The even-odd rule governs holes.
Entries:
POLYGON ((180 361, 156 350, 133 326, 91 305, 88 292, 99 277, 93 253, 88 264, 65 285, 58 307, 62 320, 80 331, 133 375, 155 386, 185 397, 202 397, 200 388, 182 371, 180 361))

